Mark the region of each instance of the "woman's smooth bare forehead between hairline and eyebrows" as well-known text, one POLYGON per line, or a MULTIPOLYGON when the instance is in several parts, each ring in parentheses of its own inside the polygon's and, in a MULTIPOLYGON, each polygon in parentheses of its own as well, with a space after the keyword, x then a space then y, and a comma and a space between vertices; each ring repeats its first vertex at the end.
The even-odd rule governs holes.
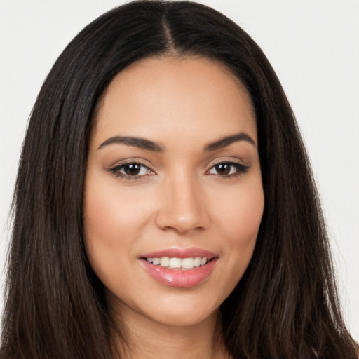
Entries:
POLYGON ((224 66, 198 57, 151 57, 111 81, 97 107, 93 137, 196 135, 200 141, 240 131, 257 140, 250 96, 224 66))

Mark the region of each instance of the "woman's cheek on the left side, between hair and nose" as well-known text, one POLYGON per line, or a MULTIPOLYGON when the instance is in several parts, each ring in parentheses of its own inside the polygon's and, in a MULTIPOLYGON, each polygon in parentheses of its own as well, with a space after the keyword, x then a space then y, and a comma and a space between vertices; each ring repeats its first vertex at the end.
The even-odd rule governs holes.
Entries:
MULTIPOLYGON (((112 181, 114 182, 114 181, 112 181)), ((128 266, 133 243, 149 221, 150 209, 141 194, 121 191, 118 184, 88 179, 83 205, 86 252, 97 276, 111 280, 128 266)))

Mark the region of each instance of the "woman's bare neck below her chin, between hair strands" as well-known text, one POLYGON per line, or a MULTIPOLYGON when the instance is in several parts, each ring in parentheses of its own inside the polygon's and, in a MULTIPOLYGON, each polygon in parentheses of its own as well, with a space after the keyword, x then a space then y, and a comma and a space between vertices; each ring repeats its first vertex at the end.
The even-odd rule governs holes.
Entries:
POLYGON ((137 313, 126 316, 126 359, 229 359, 219 311, 194 325, 163 325, 137 313))

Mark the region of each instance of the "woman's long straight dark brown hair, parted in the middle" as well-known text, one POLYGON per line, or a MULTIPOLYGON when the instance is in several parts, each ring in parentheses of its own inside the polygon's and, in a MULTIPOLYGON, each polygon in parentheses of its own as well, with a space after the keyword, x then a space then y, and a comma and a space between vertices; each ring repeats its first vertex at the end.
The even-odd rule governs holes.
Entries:
POLYGON ((113 358, 114 330, 125 343, 84 250, 88 137, 111 79, 136 60, 165 54, 221 62, 255 108, 265 208, 250 265, 221 306, 229 353, 357 358, 311 167, 276 74, 243 29, 186 1, 135 1, 105 13, 69 43, 43 83, 13 200, 1 358, 113 358))

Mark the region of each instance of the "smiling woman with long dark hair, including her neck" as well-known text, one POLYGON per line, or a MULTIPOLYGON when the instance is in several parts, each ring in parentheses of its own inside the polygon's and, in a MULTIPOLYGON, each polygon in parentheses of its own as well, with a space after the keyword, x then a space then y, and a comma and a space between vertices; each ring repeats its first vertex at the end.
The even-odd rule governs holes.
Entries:
POLYGON ((283 90, 210 8, 88 25, 32 112, 1 358, 357 358, 283 90))

